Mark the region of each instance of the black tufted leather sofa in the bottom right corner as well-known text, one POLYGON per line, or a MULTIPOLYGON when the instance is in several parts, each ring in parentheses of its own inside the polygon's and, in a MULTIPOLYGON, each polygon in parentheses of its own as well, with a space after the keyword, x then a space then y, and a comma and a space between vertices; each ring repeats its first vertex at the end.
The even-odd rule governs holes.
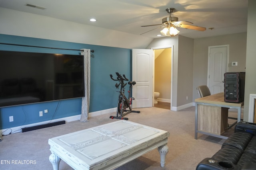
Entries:
POLYGON ((241 121, 218 152, 196 170, 256 170, 256 123, 241 121))

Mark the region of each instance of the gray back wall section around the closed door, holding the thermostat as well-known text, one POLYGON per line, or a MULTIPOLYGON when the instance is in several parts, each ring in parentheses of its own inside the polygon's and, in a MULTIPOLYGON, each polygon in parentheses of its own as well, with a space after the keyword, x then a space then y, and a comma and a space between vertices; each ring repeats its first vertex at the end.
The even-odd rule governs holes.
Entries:
POLYGON ((208 47, 214 45, 229 45, 228 72, 245 71, 246 33, 194 39, 193 101, 199 98, 196 87, 207 85, 208 47), (238 66, 231 66, 232 61, 238 66))

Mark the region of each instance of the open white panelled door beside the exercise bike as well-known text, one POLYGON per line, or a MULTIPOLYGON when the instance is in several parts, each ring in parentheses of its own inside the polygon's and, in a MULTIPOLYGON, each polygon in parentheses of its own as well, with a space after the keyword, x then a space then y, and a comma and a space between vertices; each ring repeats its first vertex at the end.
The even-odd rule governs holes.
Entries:
POLYGON ((133 108, 153 106, 153 59, 152 49, 132 49, 133 108))

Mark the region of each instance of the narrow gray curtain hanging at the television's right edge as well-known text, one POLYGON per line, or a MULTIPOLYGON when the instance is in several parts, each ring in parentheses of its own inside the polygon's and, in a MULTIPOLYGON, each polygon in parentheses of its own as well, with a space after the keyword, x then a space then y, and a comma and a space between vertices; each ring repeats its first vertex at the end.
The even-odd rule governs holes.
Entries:
POLYGON ((88 119, 90 106, 90 68, 91 68, 91 51, 90 49, 81 49, 81 55, 84 56, 84 97, 82 98, 81 122, 88 119))

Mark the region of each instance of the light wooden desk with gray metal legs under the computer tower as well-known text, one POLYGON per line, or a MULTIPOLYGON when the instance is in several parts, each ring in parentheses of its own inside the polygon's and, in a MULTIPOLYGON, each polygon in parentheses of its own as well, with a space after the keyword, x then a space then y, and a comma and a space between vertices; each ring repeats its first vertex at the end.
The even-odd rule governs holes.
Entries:
POLYGON ((227 139, 227 137, 222 136, 221 134, 228 128, 234 126, 237 122, 241 121, 241 107, 244 106, 244 102, 225 102, 224 92, 198 98, 195 100, 195 102, 195 139, 197 139, 197 133, 203 133, 214 137, 220 137, 222 139, 227 139), (237 121, 229 127, 227 127, 228 108, 234 108, 238 110, 237 121), (207 125, 203 125, 204 123, 207 125))

